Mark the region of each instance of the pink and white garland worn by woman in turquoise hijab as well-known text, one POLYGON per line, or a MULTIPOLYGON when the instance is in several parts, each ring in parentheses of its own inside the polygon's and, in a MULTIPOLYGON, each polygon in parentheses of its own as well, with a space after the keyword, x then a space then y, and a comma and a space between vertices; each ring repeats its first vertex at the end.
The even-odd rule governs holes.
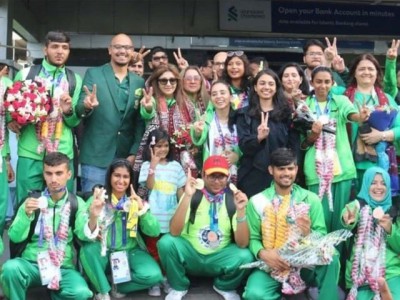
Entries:
POLYGON ((347 300, 356 300, 358 288, 369 284, 379 300, 378 278, 385 277, 385 232, 382 226, 374 223, 371 208, 366 205, 360 211, 360 223, 357 229, 351 279, 353 286, 347 300))

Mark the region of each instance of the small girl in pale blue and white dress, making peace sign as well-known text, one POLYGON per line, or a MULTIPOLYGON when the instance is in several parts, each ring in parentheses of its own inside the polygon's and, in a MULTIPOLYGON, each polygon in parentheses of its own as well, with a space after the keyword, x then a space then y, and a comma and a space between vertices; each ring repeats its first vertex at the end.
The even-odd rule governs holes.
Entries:
MULTIPOLYGON (((183 194, 186 175, 182 166, 173 160, 173 153, 168 133, 162 129, 150 132, 147 139, 147 151, 140 169, 139 185, 149 190, 148 202, 151 213, 160 223, 161 236, 169 232, 169 221, 178 206, 178 199, 183 194)), ((160 237, 146 237, 150 254, 159 262, 156 243, 160 237)), ((161 295, 160 287, 149 290, 151 296, 161 295)))

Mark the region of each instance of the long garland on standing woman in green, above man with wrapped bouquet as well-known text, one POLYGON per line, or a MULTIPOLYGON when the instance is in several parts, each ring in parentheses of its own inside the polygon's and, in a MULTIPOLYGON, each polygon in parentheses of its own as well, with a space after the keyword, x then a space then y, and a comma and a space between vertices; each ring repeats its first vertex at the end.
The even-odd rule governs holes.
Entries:
MULTIPOLYGON (((328 125, 335 128, 335 120, 330 120, 328 125)), ((317 175, 320 178, 318 196, 322 199, 325 194, 327 195, 330 211, 333 211, 332 182, 334 177, 335 146, 336 135, 328 132, 321 132, 315 142, 315 166, 317 175)))

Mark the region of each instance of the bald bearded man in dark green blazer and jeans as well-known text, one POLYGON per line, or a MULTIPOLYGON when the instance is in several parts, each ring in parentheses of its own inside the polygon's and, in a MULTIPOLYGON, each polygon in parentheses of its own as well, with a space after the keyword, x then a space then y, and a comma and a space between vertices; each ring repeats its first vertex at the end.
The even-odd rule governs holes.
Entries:
POLYGON ((76 108, 84 125, 80 145, 83 192, 104 184, 113 159, 126 158, 133 164, 144 132, 139 113, 144 80, 128 72, 134 54, 132 40, 125 34, 114 36, 108 53, 109 63, 87 70, 76 108))

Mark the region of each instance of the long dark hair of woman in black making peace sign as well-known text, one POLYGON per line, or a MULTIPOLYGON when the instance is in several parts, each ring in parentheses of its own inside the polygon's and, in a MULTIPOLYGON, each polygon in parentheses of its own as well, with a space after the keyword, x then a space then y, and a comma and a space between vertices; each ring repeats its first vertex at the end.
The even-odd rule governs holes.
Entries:
POLYGON ((275 81, 276 92, 272 97, 272 102, 274 104, 274 109, 269 114, 269 118, 271 120, 280 121, 288 119, 291 116, 290 106, 285 99, 282 91, 282 84, 279 80, 278 75, 271 69, 266 69, 258 72, 256 77, 254 77, 253 85, 250 89, 250 101, 249 101, 249 115, 251 117, 260 118, 261 106, 260 106, 260 98, 257 92, 254 89, 254 86, 257 85, 258 80, 260 80, 261 76, 269 75, 275 81))

